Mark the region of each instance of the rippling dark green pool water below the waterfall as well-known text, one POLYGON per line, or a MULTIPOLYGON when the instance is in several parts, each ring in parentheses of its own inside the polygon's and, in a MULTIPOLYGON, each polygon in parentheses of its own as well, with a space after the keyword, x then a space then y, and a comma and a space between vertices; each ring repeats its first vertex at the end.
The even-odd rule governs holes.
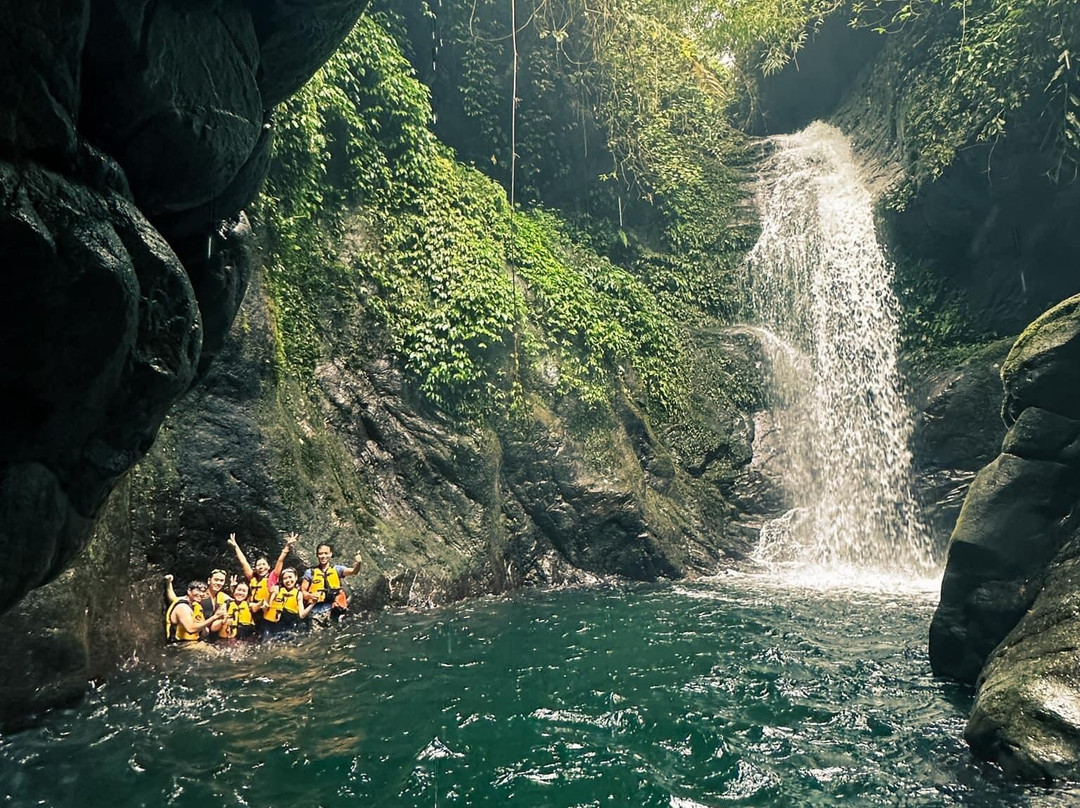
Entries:
POLYGON ((11 806, 1067 806, 933 679, 934 587, 729 575, 170 654, 0 740, 11 806))

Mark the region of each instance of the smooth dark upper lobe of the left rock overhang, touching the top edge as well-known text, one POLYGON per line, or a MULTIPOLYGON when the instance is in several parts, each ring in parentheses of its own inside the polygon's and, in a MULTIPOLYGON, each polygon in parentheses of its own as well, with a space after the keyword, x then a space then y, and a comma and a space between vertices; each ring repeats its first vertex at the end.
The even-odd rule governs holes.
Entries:
POLYGON ((123 166, 150 218, 220 197, 255 150, 259 50, 242 4, 95 2, 83 64, 80 132, 123 166))

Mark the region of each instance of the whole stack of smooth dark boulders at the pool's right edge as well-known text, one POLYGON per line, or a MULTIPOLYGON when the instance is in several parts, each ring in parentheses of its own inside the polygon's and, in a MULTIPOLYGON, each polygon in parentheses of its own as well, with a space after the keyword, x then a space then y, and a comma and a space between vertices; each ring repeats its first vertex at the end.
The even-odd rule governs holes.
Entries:
POLYGON ((1078 351, 1074 297, 1036 320, 1005 360, 1011 427, 964 501, 930 630, 934 672, 977 681, 973 749, 1026 776, 1075 777, 1080 762, 1070 706, 1080 683, 1068 659, 1080 627, 1078 351))

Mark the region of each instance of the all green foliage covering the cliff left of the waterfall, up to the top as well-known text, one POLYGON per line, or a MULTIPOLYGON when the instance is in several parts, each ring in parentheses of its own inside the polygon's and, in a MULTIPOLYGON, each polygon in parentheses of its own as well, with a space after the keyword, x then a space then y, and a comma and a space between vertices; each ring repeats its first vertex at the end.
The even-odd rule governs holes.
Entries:
MULTIPOLYGON (((434 82, 451 96, 436 97, 436 131, 476 167, 430 127, 392 8, 280 110, 259 210, 280 367, 310 375, 348 350, 332 335, 366 320, 446 409, 507 412, 539 388, 592 406, 629 386, 659 414, 686 403, 687 327, 738 309, 755 235, 750 159, 726 116, 737 71, 674 3, 525 5, 514 179, 527 207, 507 200, 504 3, 450 3, 442 21, 457 40, 453 86, 434 82)), ((794 30, 807 11, 784 9, 794 30)), ((742 17, 735 43, 779 59, 752 32, 772 31, 768 16, 742 17)))

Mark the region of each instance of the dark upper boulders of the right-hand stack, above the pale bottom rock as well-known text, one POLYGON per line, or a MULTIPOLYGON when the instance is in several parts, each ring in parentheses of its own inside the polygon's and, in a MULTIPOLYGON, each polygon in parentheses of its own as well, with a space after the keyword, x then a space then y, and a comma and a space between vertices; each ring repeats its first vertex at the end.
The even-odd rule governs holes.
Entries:
MULTIPOLYGON (((1002 417, 1011 427, 1001 454, 972 484, 953 534, 930 630, 939 675, 975 683, 1017 622, 1044 621, 1038 614, 1075 622, 1068 601, 1053 592, 1064 575, 1062 560, 1054 560, 1068 547, 1080 501, 1078 351, 1080 297, 1074 297, 1032 323, 1005 360, 1002 417)), ((1007 669, 1007 662, 994 673, 988 666, 983 686, 998 691, 997 672, 1007 669)))

